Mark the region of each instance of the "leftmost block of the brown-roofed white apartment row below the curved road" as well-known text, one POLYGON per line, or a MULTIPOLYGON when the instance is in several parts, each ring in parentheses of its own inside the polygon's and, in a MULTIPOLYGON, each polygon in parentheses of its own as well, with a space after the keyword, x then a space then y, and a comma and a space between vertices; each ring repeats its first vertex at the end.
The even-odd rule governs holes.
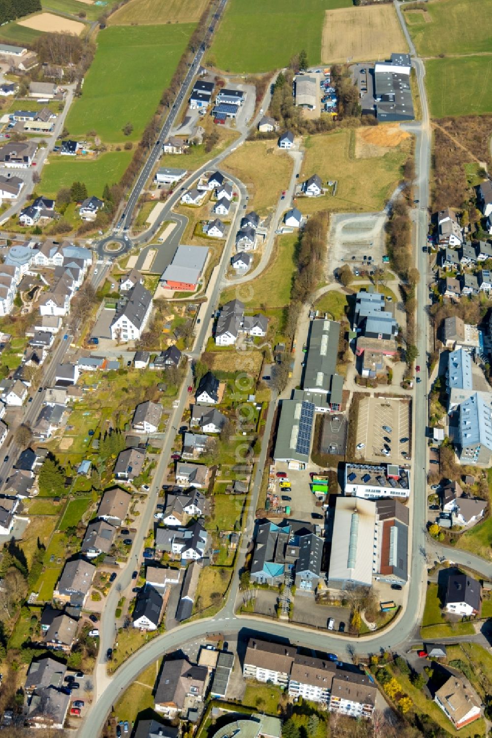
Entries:
POLYGON ((294 646, 250 638, 242 669, 245 679, 287 687, 295 658, 294 646))

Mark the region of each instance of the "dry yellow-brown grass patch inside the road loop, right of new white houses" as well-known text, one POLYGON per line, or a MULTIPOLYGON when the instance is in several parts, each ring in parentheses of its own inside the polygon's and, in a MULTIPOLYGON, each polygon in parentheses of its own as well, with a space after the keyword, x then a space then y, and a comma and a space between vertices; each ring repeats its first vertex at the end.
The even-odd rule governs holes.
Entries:
POLYGON ((276 141, 247 141, 224 159, 223 165, 247 186, 248 207, 265 215, 289 186, 294 162, 276 141))

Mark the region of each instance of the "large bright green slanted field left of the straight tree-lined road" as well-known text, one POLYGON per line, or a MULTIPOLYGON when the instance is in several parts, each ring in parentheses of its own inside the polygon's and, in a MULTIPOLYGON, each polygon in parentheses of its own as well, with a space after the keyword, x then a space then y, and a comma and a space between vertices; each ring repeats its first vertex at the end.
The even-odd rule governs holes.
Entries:
POLYGON ((177 67, 194 24, 106 28, 66 119, 71 137, 96 131, 105 142, 137 141, 177 67), (125 137, 122 128, 133 125, 125 137))

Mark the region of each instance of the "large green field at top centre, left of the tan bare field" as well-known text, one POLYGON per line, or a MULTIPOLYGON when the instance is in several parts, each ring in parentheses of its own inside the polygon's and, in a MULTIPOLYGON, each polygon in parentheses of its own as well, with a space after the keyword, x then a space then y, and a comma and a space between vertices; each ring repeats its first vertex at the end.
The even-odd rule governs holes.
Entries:
POLYGON ((271 72, 306 49, 321 60, 324 12, 351 7, 352 0, 230 0, 209 59, 231 72, 271 72))

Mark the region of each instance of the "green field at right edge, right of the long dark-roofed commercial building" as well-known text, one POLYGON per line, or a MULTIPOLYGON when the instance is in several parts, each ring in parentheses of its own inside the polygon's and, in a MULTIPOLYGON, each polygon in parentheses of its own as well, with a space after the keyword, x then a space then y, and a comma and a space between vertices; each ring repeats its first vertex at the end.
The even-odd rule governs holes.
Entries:
POLYGON ((482 115, 492 111, 491 56, 426 61, 426 85, 433 118, 482 115))

